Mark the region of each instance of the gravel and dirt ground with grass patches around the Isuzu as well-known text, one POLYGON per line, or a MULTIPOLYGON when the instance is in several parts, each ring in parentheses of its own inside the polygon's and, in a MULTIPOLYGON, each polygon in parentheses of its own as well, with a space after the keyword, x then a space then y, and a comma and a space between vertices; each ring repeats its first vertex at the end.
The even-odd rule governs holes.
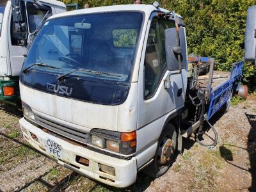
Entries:
POLYGON ((218 145, 206 148, 193 136, 162 177, 138 173, 136 183, 118 189, 87 179, 42 156, 19 129, 22 116, 0 107, 0 191, 256 191, 256 97, 234 100, 228 113, 214 116, 218 145))

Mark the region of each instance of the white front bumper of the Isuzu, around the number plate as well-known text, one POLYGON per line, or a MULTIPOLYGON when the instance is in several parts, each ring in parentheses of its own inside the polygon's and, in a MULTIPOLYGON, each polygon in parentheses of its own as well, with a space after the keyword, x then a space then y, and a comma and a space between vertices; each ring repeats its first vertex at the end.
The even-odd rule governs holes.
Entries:
POLYGON ((48 157, 55 159, 61 165, 74 170, 81 175, 90 177, 91 179, 98 180, 104 184, 115 186, 117 188, 125 188, 130 186, 136 181, 137 177, 137 164, 136 157, 132 157, 130 160, 117 159, 115 157, 106 156, 99 152, 88 150, 85 147, 79 145, 73 145, 68 141, 56 138, 42 129, 30 124, 25 118, 21 118, 20 128, 24 134, 24 138, 37 150, 42 152, 48 157), (31 133, 35 134, 38 141, 34 140, 31 133), (61 145, 62 159, 58 159, 51 154, 48 154, 44 150, 46 145, 45 141, 51 139, 61 145), (76 156, 81 156, 89 160, 89 165, 84 166, 83 164, 76 162, 76 156), (115 168, 115 176, 109 175, 108 173, 101 172, 99 170, 99 164, 105 164, 115 168), (74 166, 72 166, 74 165, 74 166))

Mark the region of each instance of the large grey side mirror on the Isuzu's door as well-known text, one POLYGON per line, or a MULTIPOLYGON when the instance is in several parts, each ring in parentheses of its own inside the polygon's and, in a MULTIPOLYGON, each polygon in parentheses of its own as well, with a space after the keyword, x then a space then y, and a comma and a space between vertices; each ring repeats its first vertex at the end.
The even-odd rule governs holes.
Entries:
POLYGON ((177 32, 175 28, 166 29, 164 31, 165 38, 165 52, 167 68, 170 71, 179 70, 179 60, 182 63, 181 68, 186 68, 187 60, 187 47, 184 28, 179 29, 180 46, 177 47, 177 32))

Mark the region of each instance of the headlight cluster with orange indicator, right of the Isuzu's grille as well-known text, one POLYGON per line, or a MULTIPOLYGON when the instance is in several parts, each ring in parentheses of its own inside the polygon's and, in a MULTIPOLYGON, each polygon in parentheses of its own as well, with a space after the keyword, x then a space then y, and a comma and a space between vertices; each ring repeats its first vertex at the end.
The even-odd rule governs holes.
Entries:
POLYGON ((93 129, 91 143, 100 148, 129 155, 136 152, 136 131, 116 132, 103 129, 93 129))

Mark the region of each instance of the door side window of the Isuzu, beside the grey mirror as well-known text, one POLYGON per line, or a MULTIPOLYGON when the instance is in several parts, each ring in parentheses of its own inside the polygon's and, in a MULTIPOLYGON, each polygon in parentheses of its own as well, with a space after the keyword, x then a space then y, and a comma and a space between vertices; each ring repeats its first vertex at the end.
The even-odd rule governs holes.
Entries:
POLYGON ((175 28, 174 22, 157 18, 152 19, 144 63, 145 99, 154 95, 164 72, 166 72, 164 30, 168 28, 175 28))

